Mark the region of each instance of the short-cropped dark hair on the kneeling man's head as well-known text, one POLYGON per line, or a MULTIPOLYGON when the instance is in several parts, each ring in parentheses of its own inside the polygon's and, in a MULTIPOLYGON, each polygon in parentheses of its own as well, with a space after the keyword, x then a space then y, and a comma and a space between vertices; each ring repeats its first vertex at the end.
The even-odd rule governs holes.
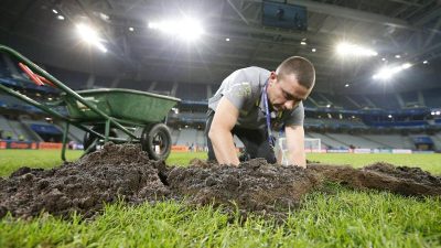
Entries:
POLYGON ((276 69, 276 74, 284 77, 295 74, 299 84, 310 89, 315 84, 315 68, 310 61, 300 56, 292 56, 284 60, 276 69))

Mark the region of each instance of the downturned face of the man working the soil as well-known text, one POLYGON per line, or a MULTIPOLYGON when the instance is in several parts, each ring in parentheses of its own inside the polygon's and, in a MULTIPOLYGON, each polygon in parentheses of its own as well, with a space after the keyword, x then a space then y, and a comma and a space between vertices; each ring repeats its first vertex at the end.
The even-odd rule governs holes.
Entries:
POLYGON ((271 72, 268 86, 268 99, 276 111, 291 110, 305 100, 312 88, 300 85, 294 74, 278 76, 271 72))

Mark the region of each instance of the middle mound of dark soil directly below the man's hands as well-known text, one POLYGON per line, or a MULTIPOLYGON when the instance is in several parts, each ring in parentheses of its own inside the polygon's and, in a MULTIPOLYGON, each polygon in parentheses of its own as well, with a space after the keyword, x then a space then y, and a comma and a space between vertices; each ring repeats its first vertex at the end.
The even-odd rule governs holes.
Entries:
POLYGON ((268 164, 255 159, 227 166, 212 164, 175 168, 168 177, 171 190, 190 196, 192 203, 233 205, 240 209, 268 211, 298 206, 301 197, 319 184, 298 166, 268 164))

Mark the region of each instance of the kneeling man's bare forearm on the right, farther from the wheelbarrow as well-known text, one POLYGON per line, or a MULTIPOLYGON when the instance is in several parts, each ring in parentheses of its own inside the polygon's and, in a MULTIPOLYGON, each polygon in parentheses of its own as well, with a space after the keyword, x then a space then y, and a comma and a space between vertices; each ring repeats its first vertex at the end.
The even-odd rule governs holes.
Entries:
POLYGON ((304 129, 302 126, 287 126, 287 144, 290 154, 289 161, 294 165, 306 166, 306 155, 304 153, 304 129))

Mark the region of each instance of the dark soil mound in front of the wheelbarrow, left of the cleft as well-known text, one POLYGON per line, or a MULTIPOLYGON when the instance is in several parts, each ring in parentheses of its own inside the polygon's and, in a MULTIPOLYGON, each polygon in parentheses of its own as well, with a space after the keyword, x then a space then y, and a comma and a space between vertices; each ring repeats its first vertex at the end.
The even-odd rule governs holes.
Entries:
POLYGON ((76 211, 86 216, 118 198, 153 201, 170 194, 155 165, 132 144, 107 144, 76 163, 52 170, 21 168, 0 182, 0 217, 35 216, 45 212, 66 216, 76 211))

